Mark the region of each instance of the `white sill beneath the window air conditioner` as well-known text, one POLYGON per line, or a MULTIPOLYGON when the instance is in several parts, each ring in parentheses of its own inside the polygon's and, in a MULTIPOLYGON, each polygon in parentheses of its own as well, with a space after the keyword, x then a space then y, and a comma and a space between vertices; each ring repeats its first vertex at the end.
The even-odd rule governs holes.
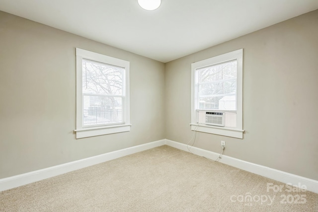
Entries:
POLYGON ((190 125, 191 125, 191 130, 193 130, 193 131, 243 139, 244 130, 239 130, 239 129, 234 129, 234 128, 226 128, 226 127, 210 126, 210 125, 204 125, 204 124, 199 124, 199 125, 198 124, 190 124, 190 125))

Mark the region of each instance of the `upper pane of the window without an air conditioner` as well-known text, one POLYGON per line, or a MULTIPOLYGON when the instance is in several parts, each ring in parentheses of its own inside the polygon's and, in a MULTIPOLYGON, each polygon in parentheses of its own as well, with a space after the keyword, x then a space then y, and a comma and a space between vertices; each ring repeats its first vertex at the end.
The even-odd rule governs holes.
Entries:
POLYGON ((82 60, 83 93, 122 95, 125 69, 82 60))

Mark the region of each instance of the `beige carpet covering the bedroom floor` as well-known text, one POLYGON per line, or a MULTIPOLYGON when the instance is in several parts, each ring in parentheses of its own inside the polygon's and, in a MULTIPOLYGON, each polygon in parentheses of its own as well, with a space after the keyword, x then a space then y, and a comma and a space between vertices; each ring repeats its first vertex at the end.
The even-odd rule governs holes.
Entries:
POLYGON ((164 145, 0 192, 0 211, 318 212, 318 194, 286 190, 164 145))

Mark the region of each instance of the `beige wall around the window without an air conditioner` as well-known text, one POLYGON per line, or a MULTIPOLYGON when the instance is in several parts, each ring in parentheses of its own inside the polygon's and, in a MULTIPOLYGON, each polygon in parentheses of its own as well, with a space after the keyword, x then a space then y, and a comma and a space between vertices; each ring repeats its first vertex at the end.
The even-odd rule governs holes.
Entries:
POLYGON ((0 11, 0 179, 164 138, 163 63, 0 11), (130 132, 75 139, 76 47, 130 61, 130 132))

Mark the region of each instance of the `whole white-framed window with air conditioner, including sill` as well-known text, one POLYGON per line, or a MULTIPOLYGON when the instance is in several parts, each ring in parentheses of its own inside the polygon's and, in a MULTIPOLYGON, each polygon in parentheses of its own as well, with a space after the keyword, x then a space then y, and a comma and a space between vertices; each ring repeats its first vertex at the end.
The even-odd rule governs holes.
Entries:
POLYGON ((193 63, 191 130, 243 138, 243 50, 193 63))

